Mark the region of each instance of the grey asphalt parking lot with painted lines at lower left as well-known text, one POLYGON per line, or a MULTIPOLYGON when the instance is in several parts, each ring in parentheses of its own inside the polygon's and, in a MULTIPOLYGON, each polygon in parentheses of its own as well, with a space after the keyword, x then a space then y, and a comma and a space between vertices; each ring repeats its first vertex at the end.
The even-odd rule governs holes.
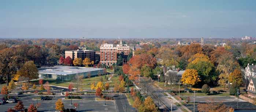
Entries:
MULTIPOLYGON (((82 95, 81 100, 72 100, 72 103, 78 103, 79 108, 77 108, 77 111, 79 112, 124 112, 124 111, 129 111, 129 112, 136 112, 134 108, 132 108, 126 97, 124 95, 114 95, 116 100, 113 101, 96 101, 95 98, 96 96, 94 95, 82 95), (117 102, 117 103, 116 103, 117 102), (127 108, 126 108, 127 106, 127 108)), ((55 112, 55 102, 57 99, 62 99, 65 108, 75 108, 74 105, 71 105, 71 100, 64 100, 64 96, 61 96, 60 94, 57 94, 55 96, 52 96, 52 100, 34 100, 33 97, 36 97, 34 94, 23 94, 23 95, 18 95, 23 102, 23 105, 25 108, 28 108, 30 104, 36 105, 37 102, 39 104, 38 111, 44 111, 44 112, 55 112)), ((38 97, 41 97, 38 95, 38 97)), ((5 103, 3 105, 0 105, 0 112, 5 112, 7 111, 8 108, 14 108, 14 106, 17 103, 5 103)), ((128 112, 127 111, 127 112, 128 112)))

